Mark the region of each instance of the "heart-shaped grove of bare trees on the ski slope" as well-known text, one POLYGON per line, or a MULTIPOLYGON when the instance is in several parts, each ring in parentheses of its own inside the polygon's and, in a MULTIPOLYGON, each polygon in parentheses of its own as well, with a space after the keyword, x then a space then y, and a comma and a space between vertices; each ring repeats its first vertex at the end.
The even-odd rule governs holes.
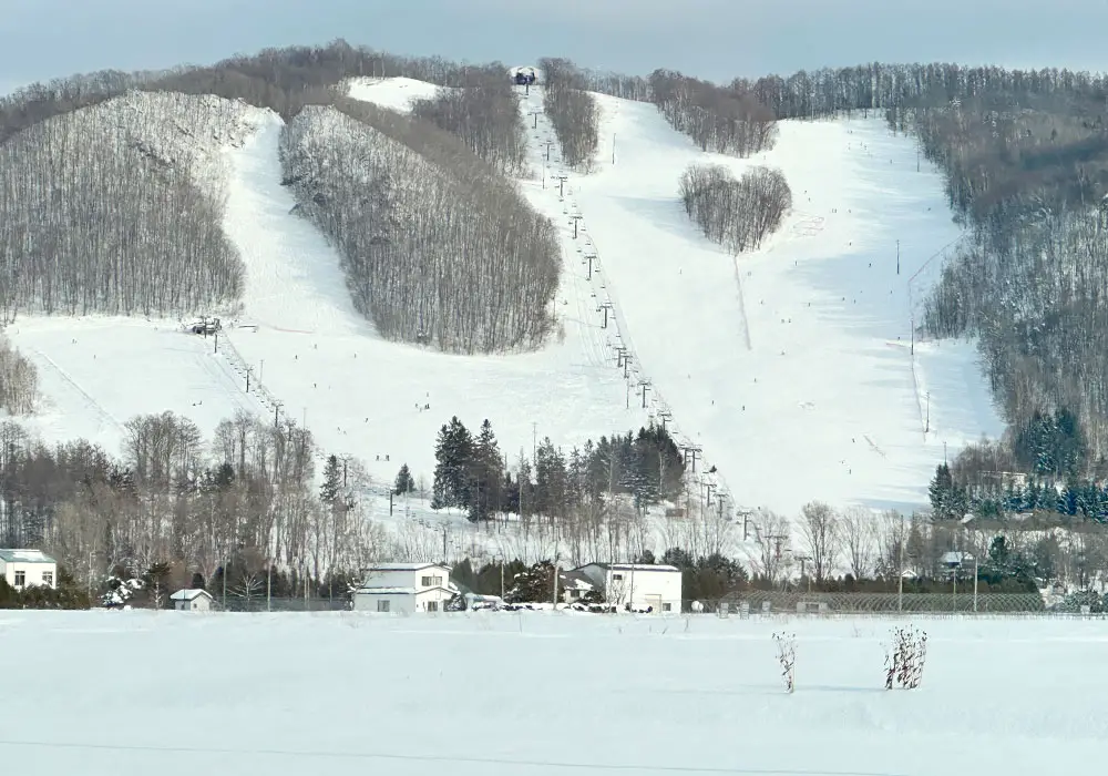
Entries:
POLYGON ((792 206, 781 171, 761 166, 736 178, 721 164, 691 164, 681 174, 679 191, 689 218, 733 254, 761 245, 792 206))

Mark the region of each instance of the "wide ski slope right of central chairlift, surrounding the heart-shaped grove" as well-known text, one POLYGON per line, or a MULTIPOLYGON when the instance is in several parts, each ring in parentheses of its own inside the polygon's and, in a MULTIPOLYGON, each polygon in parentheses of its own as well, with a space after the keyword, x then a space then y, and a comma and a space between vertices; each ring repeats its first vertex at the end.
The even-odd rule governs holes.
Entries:
MULTIPOLYGON (((912 353, 913 307, 960 232, 909 139, 875 118, 786 121, 773 150, 742 161, 700 152, 653 105, 595 98, 596 169, 554 172, 568 175, 639 378, 740 503, 910 510, 944 449, 1003 430, 971 344, 912 353), (780 167, 792 213, 761 249, 728 255, 678 201, 695 162, 780 167)), ((542 109, 541 90, 529 106, 542 109)), ((547 125, 540 140, 552 137, 547 125)))

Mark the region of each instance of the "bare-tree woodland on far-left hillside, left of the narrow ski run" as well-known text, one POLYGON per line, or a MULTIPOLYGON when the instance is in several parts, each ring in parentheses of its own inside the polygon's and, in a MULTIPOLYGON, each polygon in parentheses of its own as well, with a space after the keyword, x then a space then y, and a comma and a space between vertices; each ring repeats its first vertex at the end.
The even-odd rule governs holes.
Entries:
POLYGON ((171 315, 238 299, 243 265, 199 174, 243 108, 131 94, 0 145, 0 308, 171 315))

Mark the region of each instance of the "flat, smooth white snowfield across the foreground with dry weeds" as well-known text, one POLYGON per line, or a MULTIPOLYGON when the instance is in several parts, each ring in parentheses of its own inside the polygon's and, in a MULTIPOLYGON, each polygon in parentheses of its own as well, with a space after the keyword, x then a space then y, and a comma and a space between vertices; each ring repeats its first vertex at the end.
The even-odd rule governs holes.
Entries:
POLYGON ((3 612, 20 776, 1092 774, 1104 621, 3 612), (797 634, 797 692, 771 633, 797 634))

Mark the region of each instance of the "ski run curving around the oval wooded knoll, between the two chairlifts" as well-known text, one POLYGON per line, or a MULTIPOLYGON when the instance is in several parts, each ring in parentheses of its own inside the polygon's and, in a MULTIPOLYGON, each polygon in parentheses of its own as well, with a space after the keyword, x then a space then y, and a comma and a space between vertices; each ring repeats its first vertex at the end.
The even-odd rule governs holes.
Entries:
POLYGON ((536 433, 572 446, 645 421, 605 368, 604 331, 572 280, 558 294, 564 339, 534 354, 456 356, 380 339, 353 309, 339 256, 290 213, 279 134, 280 120, 266 113, 242 149, 227 151, 225 229, 247 276, 230 341, 326 453, 362 459, 382 484, 403 462, 430 482, 435 435, 455 415, 474 430, 488 418, 510 459, 536 433))

